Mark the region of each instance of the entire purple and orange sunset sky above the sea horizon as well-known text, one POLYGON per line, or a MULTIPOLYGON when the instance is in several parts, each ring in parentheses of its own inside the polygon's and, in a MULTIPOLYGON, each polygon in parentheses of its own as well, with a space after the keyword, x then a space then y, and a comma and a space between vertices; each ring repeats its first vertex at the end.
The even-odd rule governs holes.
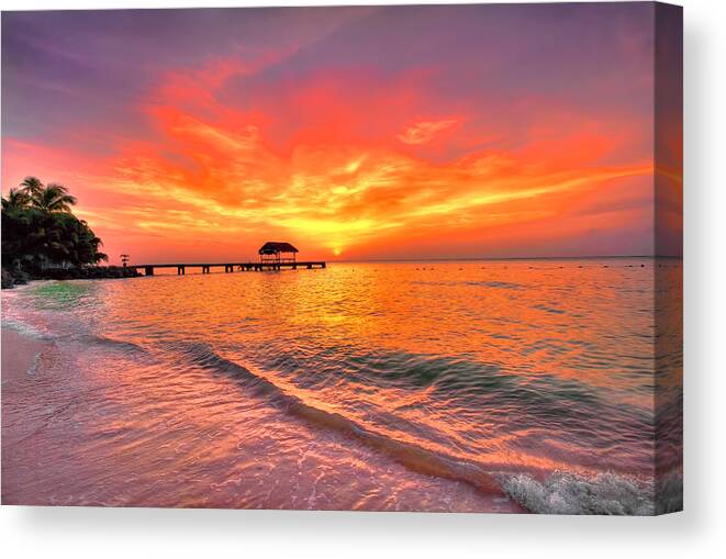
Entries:
MULTIPOLYGON (((66 185, 112 262, 266 241, 654 254, 654 21, 648 3, 5 12, 2 191, 66 185)), ((678 165, 658 172, 680 199, 678 165)))

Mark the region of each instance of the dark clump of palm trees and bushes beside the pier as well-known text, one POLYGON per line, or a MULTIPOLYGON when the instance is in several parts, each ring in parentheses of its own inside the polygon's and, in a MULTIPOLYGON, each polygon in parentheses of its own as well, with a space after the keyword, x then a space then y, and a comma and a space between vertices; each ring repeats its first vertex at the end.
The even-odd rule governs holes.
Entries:
POLYGON ((27 177, 2 198, 2 288, 31 279, 121 278, 135 271, 99 267, 102 242, 72 214, 63 185, 27 177))

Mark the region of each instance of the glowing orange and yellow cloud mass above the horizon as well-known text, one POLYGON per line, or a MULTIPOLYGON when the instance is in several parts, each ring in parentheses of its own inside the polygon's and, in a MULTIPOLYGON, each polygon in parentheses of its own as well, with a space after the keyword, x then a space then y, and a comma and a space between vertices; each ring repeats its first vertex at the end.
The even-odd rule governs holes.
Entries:
POLYGON ((652 224, 640 197, 652 160, 617 156, 645 134, 640 123, 543 105, 518 136, 490 145, 506 122, 415 120, 431 104, 417 75, 313 76, 224 101, 230 80, 250 71, 215 62, 170 74, 139 103, 146 136, 65 159, 18 144, 3 182, 29 169, 66 180, 107 251, 136 261, 254 257, 268 238, 324 258, 561 254, 652 224), (444 133, 439 147, 458 152, 426 152, 444 133), (58 177, 63 168, 77 171, 58 177))

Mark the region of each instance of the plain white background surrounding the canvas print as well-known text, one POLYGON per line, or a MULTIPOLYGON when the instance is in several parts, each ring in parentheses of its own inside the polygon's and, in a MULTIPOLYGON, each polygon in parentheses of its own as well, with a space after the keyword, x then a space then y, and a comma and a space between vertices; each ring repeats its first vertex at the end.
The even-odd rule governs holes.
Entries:
MULTIPOLYGON (((334 4, 0 0, 2 10, 334 4)), ((346 3, 340 1, 338 3, 346 3)), ((386 3, 355 1, 347 3, 386 3)), ((394 2, 388 2, 394 3, 394 2)), ((426 3, 426 2, 395 2, 426 3)), ((446 3, 446 2, 436 2, 446 3)), ((9 558, 716 557, 726 549, 726 2, 685 19, 685 508, 658 518, 150 508, 0 508, 9 558)), ((596 71, 596 70, 595 70, 596 71)))

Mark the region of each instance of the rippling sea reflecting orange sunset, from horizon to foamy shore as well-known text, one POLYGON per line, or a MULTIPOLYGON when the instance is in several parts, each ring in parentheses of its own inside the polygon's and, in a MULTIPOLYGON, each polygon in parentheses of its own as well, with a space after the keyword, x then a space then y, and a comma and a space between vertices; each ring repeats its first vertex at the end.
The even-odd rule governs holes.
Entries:
POLYGON ((648 258, 334 264, 5 291, 3 325, 49 344, 3 380, 3 500, 650 514, 680 485, 679 434, 654 484, 656 358, 682 368, 654 310, 680 315, 680 278, 648 258))

